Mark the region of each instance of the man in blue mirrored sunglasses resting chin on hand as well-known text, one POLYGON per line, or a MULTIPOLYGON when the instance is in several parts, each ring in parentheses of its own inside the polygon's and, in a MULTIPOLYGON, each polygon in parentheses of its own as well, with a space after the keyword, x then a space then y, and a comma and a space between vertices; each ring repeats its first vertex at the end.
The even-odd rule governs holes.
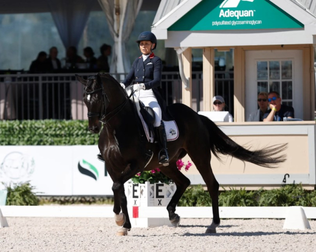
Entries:
POLYGON ((282 99, 278 92, 271 91, 268 94, 268 101, 271 110, 264 114, 264 122, 283 121, 283 117, 294 118, 294 108, 281 104, 282 99))

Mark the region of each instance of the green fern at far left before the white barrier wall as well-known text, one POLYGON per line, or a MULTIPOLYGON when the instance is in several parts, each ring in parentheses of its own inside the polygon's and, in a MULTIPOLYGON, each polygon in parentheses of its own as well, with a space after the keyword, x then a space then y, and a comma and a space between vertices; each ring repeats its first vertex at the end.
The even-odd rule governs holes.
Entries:
POLYGON ((8 191, 7 206, 38 206, 40 203, 39 198, 32 191, 35 187, 29 182, 14 184, 13 187, 6 186, 6 189, 8 191))

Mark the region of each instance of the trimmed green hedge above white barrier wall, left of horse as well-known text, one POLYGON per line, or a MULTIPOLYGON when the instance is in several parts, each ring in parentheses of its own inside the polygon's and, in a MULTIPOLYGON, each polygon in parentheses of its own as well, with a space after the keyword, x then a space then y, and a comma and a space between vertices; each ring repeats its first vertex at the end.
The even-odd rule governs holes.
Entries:
POLYGON ((0 145, 93 145, 87 120, 0 121, 0 145))

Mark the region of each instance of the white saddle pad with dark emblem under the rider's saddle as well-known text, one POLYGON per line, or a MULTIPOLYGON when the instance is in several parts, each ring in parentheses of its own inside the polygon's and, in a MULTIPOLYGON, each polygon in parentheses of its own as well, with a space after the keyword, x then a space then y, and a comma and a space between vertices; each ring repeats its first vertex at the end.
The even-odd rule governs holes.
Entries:
MULTIPOLYGON (((139 106, 138 101, 136 101, 136 98, 135 98, 135 105, 137 108, 138 115, 142 121, 147 140, 149 143, 154 143, 155 134, 154 134, 154 132, 149 132, 149 128, 148 128, 146 122, 144 121, 143 116, 140 113, 140 106, 139 106)), ((169 142, 169 141, 174 141, 174 140, 178 139, 179 130, 178 130, 178 126, 177 126, 176 122, 173 120, 173 121, 163 121, 163 123, 164 123, 164 128, 166 130, 167 141, 169 142)), ((157 143, 157 141, 156 141, 156 143, 157 143)))

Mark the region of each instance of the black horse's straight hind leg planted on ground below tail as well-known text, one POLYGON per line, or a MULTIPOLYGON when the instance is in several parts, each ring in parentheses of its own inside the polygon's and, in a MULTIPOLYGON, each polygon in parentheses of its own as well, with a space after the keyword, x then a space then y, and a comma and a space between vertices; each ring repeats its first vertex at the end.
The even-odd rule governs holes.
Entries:
POLYGON ((211 225, 207 227, 205 233, 216 233, 216 227, 220 224, 218 209, 219 183, 215 179, 211 168, 211 152, 207 148, 200 148, 192 151, 188 150, 188 154, 205 181, 207 191, 212 199, 213 220, 211 225))

